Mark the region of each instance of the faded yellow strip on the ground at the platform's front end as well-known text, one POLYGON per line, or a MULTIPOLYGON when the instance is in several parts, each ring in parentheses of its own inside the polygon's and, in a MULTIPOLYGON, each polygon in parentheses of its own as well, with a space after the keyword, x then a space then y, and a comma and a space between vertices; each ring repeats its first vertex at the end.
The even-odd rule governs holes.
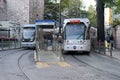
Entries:
POLYGON ((37 67, 40 68, 46 68, 46 67, 50 67, 50 65, 58 65, 60 67, 70 67, 71 65, 68 64, 67 62, 36 62, 37 67))

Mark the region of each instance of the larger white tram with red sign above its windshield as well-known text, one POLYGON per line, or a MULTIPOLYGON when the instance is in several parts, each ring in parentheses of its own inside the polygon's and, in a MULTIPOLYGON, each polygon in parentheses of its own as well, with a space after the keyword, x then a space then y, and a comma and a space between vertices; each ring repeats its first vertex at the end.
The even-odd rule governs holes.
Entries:
POLYGON ((87 18, 65 19, 63 24, 62 52, 77 51, 90 53, 90 21, 87 18))

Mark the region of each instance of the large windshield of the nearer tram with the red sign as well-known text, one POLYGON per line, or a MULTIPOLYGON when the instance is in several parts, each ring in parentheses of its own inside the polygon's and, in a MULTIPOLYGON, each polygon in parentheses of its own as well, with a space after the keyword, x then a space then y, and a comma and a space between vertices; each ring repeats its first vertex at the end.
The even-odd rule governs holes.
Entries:
POLYGON ((65 38, 69 39, 84 39, 84 24, 67 24, 65 28, 65 38))

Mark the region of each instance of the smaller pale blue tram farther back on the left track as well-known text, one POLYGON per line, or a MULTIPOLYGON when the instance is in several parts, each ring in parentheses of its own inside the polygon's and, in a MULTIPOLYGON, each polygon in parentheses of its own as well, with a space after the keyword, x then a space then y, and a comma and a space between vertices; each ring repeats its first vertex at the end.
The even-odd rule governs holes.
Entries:
POLYGON ((36 25, 26 24, 22 27, 22 48, 35 48, 36 25))

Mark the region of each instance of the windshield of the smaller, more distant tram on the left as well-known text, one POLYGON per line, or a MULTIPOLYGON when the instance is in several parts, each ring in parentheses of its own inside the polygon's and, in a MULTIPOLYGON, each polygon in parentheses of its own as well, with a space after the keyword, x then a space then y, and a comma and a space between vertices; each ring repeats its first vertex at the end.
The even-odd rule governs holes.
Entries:
POLYGON ((23 41, 24 42, 32 42, 35 39, 35 28, 34 27, 26 27, 23 28, 23 41))

